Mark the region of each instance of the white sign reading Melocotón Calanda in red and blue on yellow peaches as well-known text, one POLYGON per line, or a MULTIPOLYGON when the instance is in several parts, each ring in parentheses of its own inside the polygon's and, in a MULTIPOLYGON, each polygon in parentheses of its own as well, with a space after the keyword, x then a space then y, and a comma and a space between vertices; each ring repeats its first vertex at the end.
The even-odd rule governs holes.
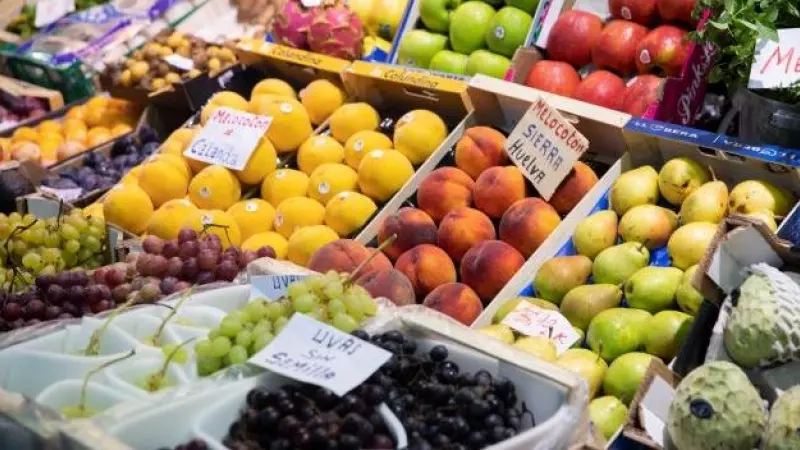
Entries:
POLYGON ((217 108, 183 154, 209 164, 242 170, 270 124, 272 117, 217 108))

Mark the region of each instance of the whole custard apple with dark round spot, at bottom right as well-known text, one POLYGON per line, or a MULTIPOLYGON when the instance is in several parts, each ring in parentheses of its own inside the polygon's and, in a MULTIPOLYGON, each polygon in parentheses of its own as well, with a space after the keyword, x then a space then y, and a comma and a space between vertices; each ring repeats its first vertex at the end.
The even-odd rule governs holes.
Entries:
POLYGON ((667 430, 680 450, 752 450, 766 410, 747 375, 714 361, 693 370, 675 390, 667 430))

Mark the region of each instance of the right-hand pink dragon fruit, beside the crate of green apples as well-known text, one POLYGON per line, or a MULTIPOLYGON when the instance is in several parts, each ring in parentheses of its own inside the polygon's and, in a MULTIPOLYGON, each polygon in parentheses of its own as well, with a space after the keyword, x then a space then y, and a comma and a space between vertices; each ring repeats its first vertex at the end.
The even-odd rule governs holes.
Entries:
POLYGON ((358 15, 341 3, 318 9, 308 30, 312 51, 336 58, 361 58, 364 26, 358 15))

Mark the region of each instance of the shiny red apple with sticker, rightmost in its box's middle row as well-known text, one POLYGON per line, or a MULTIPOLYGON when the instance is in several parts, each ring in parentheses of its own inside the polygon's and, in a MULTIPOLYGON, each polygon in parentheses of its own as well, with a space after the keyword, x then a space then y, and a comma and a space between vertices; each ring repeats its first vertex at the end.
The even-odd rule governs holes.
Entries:
POLYGON ((689 57, 688 33, 672 25, 662 25, 644 37, 636 47, 636 67, 639 73, 660 69, 668 77, 680 75, 689 57))

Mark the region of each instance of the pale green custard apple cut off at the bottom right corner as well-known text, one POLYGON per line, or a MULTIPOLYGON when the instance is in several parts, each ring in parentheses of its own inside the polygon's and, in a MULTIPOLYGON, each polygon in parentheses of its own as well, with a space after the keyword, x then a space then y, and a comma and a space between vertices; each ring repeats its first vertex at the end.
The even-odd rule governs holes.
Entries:
POLYGON ((800 448, 800 386, 784 392, 772 405, 762 441, 763 450, 800 448))

